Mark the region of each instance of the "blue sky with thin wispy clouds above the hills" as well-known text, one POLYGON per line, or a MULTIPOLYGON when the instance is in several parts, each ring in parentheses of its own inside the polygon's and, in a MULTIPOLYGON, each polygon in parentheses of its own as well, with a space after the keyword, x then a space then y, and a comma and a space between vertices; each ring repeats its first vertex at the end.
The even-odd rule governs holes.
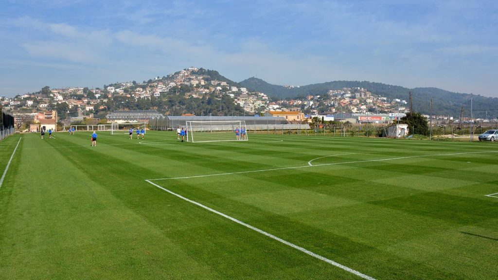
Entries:
POLYGON ((498 1, 1 0, 0 96, 195 66, 498 97, 498 1))

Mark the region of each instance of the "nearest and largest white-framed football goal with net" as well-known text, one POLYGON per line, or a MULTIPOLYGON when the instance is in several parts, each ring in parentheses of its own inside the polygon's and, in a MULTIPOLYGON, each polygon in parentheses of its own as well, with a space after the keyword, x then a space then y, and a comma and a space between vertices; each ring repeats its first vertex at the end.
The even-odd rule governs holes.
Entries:
POLYGON ((246 121, 187 121, 187 141, 247 141, 246 121))

